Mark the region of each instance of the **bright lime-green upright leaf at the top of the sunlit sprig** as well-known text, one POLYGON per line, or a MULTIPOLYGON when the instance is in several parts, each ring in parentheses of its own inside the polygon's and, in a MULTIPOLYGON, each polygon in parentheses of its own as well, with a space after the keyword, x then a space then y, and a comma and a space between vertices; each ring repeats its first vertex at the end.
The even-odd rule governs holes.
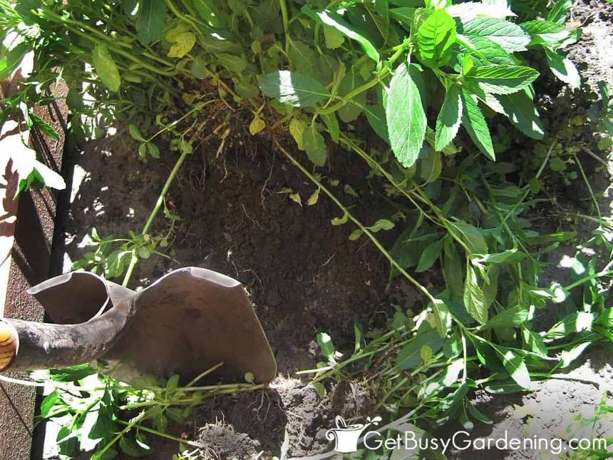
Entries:
POLYGON ((417 38, 420 60, 428 67, 444 66, 455 43, 455 21, 442 9, 434 11, 419 26, 417 38))

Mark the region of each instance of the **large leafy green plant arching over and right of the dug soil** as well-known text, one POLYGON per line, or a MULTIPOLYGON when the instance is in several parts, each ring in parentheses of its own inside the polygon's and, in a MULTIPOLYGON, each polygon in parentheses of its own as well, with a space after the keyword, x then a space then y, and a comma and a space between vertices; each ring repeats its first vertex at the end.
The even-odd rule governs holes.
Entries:
MULTIPOLYGON (((570 285, 542 287, 544 255, 576 235, 538 232, 522 214, 538 205, 542 173, 561 168, 560 155, 595 201, 582 149, 572 139, 558 143, 557 133, 545 138, 532 87, 539 73, 524 57, 535 51, 530 59, 581 86, 564 55, 580 35, 567 23, 572 1, 27 0, 0 8, 0 76, 35 53, 33 75, 3 101, 3 113, 31 119, 28 103, 53 98, 52 83, 63 78, 74 133, 103 136, 107 124, 127 121, 144 160, 158 158, 160 147, 180 153, 143 230, 125 239, 96 234, 81 267, 125 273, 127 285, 139 258, 172 240, 172 228, 152 235, 151 225, 162 208, 176 220, 165 197, 187 156, 205 140, 216 140, 220 155, 255 136, 311 180, 311 201, 324 193, 339 206, 332 225, 355 225, 349 238, 369 238, 391 278, 405 277, 425 299, 421 311, 399 307, 388 330, 356 324, 354 354, 344 361, 320 334, 328 362, 314 370, 314 384, 322 394, 325 377, 364 379, 392 419, 426 431, 455 417, 470 426, 487 422, 470 389, 522 391, 612 339, 602 284, 612 275, 611 223, 592 218, 597 229, 577 245, 570 285), (492 135, 488 118, 497 114, 512 127, 499 124, 492 135), (532 169, 508 149, 510 130, 542 140, 532 169), (364 161, 397 212, 361 223, 311 172, 332 150, 364 161), (392 228, 401 233, 386 248, 375 233, 392 228), (590 260, 586 247, 606 260, 590 260), (419 273, 439 266, 441 282, 424 287, 419 273), (577 306, 570 293, 579 287, 577 306), (560 322, 542 330, 539 314, 552 303, 560 322)), ((598 117, 610 128, 603 88, 598 117)))

